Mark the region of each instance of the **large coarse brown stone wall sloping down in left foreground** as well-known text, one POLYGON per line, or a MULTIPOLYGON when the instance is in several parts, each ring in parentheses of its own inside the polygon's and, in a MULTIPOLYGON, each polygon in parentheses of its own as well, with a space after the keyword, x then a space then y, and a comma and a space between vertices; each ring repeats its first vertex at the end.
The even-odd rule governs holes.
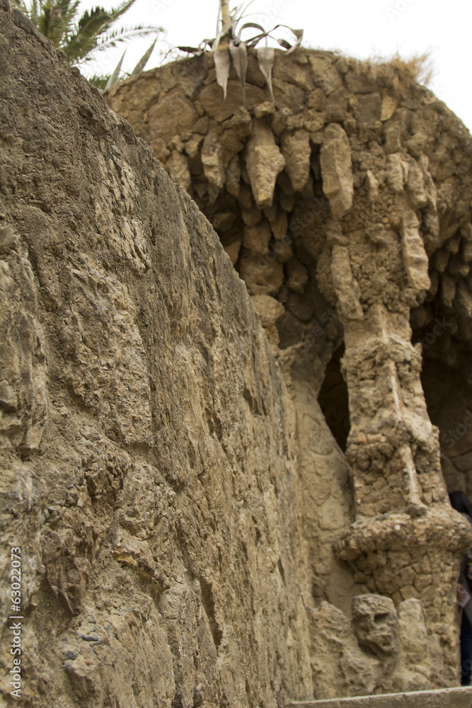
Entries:
MULTIPOLYGON (((0 42, 6 704, 11 547, 22 705, 308 699, 294 410, 246 286, 149 146, 5 2, 0 42)), ((179 130, 196 111, 172 90, 179 130)))

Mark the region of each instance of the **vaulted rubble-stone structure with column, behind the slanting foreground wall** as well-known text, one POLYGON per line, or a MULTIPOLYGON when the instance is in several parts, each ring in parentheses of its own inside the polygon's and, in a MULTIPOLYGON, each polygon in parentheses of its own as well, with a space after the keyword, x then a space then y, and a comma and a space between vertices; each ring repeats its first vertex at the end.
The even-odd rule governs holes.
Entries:
MULTIPOLYGON (((202 55, 106 98, 212 222, 284 371, 301 443, 317 695, 454 685, 456 577, 471 538, 444 474, 449 491, 470 482, 459 447, 463 476, 451 476, 451 409, 434 377, 451 367, 459 425, 472 336, 471 136, 401 64, 276 52, 272 102, 250 52, 247 81, 245 105, 235 74, 223 101, 202 55), (317 402, 327 368, 340 379, 341 346, 349 411, 331 417, 349 416, 345 455, 317 402), (366 593, 384 598, 372 603, 384 602, 391 649, 374 641, 359 678, 352 603, 366 593), (403 638, 413 675, 398 678, 398 627, 413 617, 424 641, 411 649, 403 638)), ((366 617, 376 634, 376 611, 366 617)))

